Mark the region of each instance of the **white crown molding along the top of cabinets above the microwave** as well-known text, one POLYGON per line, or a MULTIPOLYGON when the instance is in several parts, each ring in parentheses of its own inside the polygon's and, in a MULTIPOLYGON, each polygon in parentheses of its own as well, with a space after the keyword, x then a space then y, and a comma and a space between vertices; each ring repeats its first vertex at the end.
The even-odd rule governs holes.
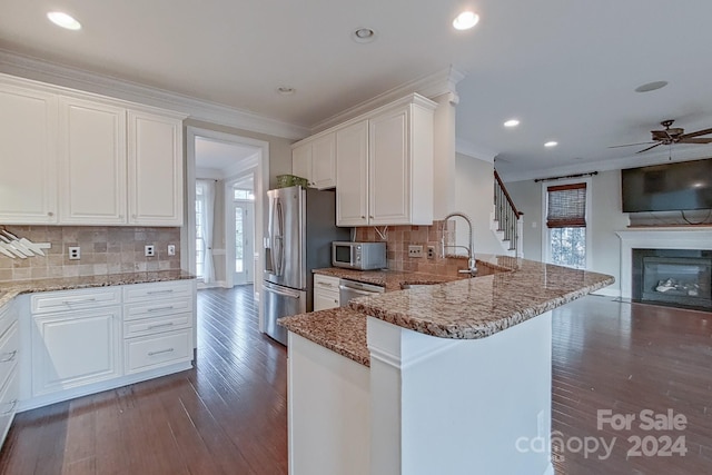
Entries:
POLYGON ((358 117, 366 112, 373 111, 374 109, 402 99, 404 96, 408 96, 412 93, 418 93, 428 99, 449 93, 449 100, 454 103, 457 103, 459 98, 457 97, 456 87, 457 83, 463 80, 463 78, 465 78, 465 75, 451 66, 437 72, 395 87, 374 97, 373 99, 346 109, 335 116, 332 116, 328 119, 314 125, 312 127, 312 133, 317 133, 334 126, 338 126, 339 123, 344 123, 347 120, 353 119, 354 117, 358 117))

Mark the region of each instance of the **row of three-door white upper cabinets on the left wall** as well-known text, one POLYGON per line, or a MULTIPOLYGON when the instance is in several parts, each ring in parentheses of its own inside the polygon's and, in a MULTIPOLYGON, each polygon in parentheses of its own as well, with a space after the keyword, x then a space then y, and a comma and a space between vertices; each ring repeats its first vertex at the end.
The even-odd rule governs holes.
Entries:
POLYGON ((184 118, 0 75, 0 224, 181 226, 184 118))

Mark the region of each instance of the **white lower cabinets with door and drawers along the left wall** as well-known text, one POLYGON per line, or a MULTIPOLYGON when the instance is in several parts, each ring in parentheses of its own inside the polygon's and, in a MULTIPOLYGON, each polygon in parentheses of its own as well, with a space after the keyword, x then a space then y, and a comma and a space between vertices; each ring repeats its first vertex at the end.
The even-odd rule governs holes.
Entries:
MULTIPOLYGON (((24 304, 29 323, 21 326, 31 362, 21 366, 29 382, 22 383, 20 409, 189 369, 195 299, 195 280, 31 295, 24 304)), ((0 335, 3 325, 0 316, 0 335)), ((10 370, 3 360, 18 340, 11 333, 16 327, 0 336, 0 392, 10 370)))

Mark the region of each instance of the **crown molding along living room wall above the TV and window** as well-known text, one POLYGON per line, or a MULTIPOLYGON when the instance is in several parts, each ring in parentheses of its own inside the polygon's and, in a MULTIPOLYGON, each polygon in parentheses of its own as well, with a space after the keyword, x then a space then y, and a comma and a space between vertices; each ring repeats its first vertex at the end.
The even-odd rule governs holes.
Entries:
POLYGON ((695 149, 695 150, 685 150, 683 152, 678 152, 676 157, 670 159, 670 154, 668 151, 661 151, 655 154, 649 154, 646 156, 633 155, 623 158, 616 158, 611 160, 597 160, 597 161, 583 161, 580 164, 571 164, 558 167, 551 168, 541 168, 536 170, 497 170, 500 176, 502 177, 502 181, 524 181, 524 180, 534 180, 536 178, 546 178, 551 176, 562 176, 562 175, 575 175, 575 174, 587 174, 593 170, 595 171, 611 171, 611 170, 622 170, 624 168, 634 168, 634 167, 646 167, 649 165, 657 165, 665 164, 670 161, 689 161, 689 160, 700 160, 703 158, 710 158, 712 154, 709 148, 704 147, 704 150, 695 149))

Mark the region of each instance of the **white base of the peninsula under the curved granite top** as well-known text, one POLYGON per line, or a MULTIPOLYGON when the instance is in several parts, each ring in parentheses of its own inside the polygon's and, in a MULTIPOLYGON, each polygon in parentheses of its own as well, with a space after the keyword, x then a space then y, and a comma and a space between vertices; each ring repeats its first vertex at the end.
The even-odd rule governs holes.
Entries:
POLYGON ((289 333, 290 474, 553 475, 551 311, 481 339, 367 334, 370 369, 289 333))

